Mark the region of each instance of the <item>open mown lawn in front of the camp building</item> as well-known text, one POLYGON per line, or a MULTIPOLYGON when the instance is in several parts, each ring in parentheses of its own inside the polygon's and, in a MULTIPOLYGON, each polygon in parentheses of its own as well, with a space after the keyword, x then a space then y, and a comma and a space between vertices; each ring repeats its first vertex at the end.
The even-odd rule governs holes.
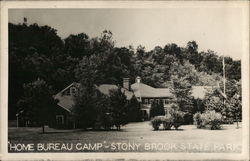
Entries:
POLYGON ((121 131, 46 128, 46 133, 42 134, 42 128, 9 127, 8 132, 9 152, 238 153, 242 147, 242 129, 236 129, 235 124, 223 125, 222 130, 197 129, 194 125, 183 125, 180 130, 153 131, 149 122, 140 122, 123 126, 121 131), (34 144, 34 149, 25 149, 28 144, 34 144))

